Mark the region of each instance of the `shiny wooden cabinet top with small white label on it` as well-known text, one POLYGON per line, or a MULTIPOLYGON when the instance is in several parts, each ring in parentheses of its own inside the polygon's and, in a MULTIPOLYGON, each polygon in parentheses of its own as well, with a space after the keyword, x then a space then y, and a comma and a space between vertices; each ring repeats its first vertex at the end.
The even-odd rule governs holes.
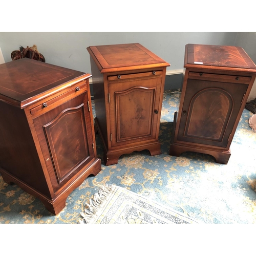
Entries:
POLYGON ((184 67, 256 72, 256 66, 241 47, 193 45, 185 48, 184 67))

